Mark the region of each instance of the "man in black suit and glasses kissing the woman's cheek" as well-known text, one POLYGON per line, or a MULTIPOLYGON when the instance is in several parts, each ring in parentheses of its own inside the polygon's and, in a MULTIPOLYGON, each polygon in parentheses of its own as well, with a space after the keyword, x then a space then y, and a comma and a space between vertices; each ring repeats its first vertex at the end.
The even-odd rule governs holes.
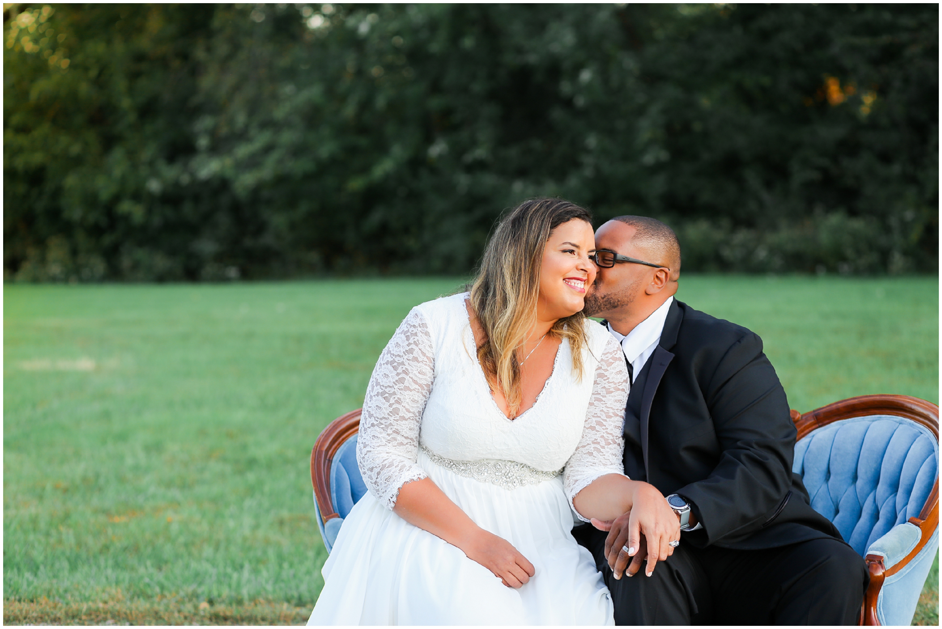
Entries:
POLYGON ((672 516, 662 505, 574 529, 616 624, 856 624, 869 575, 791 473, 796 430, 762 341, 674 299, 667 225, 615 218, 595 245, 586 313, 625 353, 625 474, 656 487, 683 531, 648 556, 645 520, 672 516))

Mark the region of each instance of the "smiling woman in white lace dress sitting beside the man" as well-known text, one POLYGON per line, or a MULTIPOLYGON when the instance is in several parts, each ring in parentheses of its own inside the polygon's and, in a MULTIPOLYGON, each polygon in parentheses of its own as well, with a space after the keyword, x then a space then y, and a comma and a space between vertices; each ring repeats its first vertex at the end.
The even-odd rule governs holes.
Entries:
MULTIPOLYGON (((625 359, 581 315, 589 214, 524 202, 470 294, 416 306, 366 390, 369 492, 324 564, 309 624, 612 624, 570 530, 632 506, 625 359)), ((673 538, 676 539, 676 538, 673 538)))

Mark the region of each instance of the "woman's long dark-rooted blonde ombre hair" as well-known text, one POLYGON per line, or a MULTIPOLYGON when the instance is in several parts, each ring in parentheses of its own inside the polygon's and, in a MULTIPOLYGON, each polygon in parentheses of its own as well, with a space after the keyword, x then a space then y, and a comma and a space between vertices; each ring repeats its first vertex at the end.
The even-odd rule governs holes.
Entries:
MULTIPOLYGON (((478 361, 491 387, 499 387, 512 417, 520 410, 519 347, 536 323, 540 269, 549 234, 570 220, 592 225, 589 211, 561 199, 532 199, 502 218, 484 249, 478 277, 471 284, 471 307, 484 339, 478 361)), ((573 371, 582 378, 582 347, 587 345, 581 312, 558 320, 548 336, 569 339, 573 371)))

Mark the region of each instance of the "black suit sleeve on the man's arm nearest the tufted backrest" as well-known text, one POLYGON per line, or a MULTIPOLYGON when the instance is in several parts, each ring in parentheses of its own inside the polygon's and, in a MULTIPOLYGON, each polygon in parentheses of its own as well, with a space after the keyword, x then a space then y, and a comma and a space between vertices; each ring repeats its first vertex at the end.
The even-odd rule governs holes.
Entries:
POLYGON ((724 538, 761 528, 782 504, 791 487, 797 433, 785 390, 753 332, 704 373, 704 398, 722 454, 707 478, 677 493, 692 503, 707 544, 722 545, 724 538))

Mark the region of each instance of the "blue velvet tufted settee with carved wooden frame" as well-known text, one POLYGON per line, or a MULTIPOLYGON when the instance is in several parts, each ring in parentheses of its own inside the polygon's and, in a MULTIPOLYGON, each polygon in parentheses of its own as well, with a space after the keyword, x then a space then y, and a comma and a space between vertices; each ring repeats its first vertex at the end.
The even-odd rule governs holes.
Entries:
MULTIPOLYGON (((811 506, 865 558, 860 623, 906 625, 938 551, 938 407, 905 395, 861 395, 804 414, 793 471, 811 506)), ((311 451, 317 528, 330 552, 366 487, 356 462, 360 410, 335 419, 311 451)))

